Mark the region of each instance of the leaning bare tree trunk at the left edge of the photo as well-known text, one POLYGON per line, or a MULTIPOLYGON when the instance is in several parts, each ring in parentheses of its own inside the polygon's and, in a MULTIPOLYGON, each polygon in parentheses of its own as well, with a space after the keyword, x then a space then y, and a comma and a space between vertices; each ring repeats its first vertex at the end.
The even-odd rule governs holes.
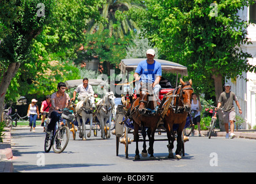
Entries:
POLYGON ((15 76, 16 72, 20 68, 20 63, 10 63, 7 71, 3 73, 1 85, 0 85, 0 114, 3 113, 4 103, 5 103, 5 94, 12 81, 12 78, 15 76))

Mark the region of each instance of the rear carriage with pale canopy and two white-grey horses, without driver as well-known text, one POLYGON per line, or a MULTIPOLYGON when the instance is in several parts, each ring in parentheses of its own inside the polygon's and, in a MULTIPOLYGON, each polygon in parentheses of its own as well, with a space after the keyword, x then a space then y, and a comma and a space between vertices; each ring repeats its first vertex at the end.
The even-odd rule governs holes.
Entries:
MULTIPOLYGON (((89 85, 101 87, 106 83, 101 79, 89 79, 89 85)), ((82 79, 66 81, 67 89, 72 89, 82 84, 82 79)), ((73 93, 71 94, 73 97, 73 93)), ((77 127, 80 127, 79 136, 83 140, 86 140, 86 130, 89 130, 87 137, 91 137, 91 131, 93 135, 97 136, 97 131, 101 130, 101 138, 105 139, 110 137, 110 127, 112 120, 112 109, 114 108, 114 94, 106 93, 95 103, 94 95, 87 95, 83 101, 73 103, 73 110, 76 114, 77 127), (86 129, 86 125, 89 124, 89 129, 86 129)), ((72 124, 70 129, 73 132, 73 139, 76 139, 76 127, 72 124)))

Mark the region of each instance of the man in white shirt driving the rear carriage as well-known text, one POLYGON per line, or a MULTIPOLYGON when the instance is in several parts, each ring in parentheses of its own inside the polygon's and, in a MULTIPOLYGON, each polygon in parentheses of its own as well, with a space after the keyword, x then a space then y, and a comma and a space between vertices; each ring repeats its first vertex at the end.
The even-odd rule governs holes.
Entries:
POLYGON ((74 90, 73 98, 71 98, 71 101, 74 101, 76 99, 76 94, 78 93, 78 101, 84 100, 86 95, 94 94, 94 91, 92 89, 92 86, 88 84, 88 78, 82 79, 82 84, 77 86, 76 90, 74 90))

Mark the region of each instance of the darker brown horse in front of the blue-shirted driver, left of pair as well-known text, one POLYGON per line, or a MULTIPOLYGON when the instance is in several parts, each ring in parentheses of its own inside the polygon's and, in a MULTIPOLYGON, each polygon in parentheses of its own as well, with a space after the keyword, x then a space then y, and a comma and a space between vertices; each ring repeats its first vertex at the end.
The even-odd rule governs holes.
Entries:
POLYGON ((136 150, 135 150, 135 158, 140 159, 139 150, 138 150, 138 141, 139 135, 138 131, 141 128, 141 133, 143 137, 143 150, 141 155, 143 157, 148 156, 150 154, 150 158, 154 158, 153 156, 153 144, 155 141, 155 132, 157 128, 157 122, 160 118, 160 113, 153 114, 152 110, 155 108, 154 101, 149 100, 151 97, 150 91, 142 90, 140 91, 140 98, 135 99, 133 105, 131 105, 131 117, 134 122, 134 140, 136 141, 136 150), (145 127, 148 128, 147 132, 145 131, 145 127), (149 138, 149 148, 148 153, 146 151, 146 133, 149 138))

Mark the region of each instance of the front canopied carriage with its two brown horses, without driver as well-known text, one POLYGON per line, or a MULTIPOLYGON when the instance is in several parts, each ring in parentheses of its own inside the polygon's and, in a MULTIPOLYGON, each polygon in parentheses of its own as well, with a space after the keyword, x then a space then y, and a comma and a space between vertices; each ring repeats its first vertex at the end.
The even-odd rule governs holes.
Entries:
MULTIPOLYGON (((123 59, 119 68, 123 74, 129 76, 129 72, 134 71, 138 63, 142 60, 145 59, 123 59)), ((193 88, 191 87, 192 82, 190 80, 185 83, 181 79, 183 75, 187 75, 187 67, 167 60, 155 60, 161 64, 162 71, 176 74, 176 87, 172 88, 168 80, 166 82, 160 81, 162 89, 159 92, 159 98, 161 99, 161 103, 154 106, 153 103, 150 103, 148 100, 148 97, 152 95, 150 91, 142 89, 139 97, 137 97, 137 95, 131 93, 133 89, 129 86, 129 82, 123 85, 123 100, 122 104, 118 105, 116 108, 115 132, 112 132, 116 135, 116 156, 118 156, 119 152, 119 143, 123 143, 125 144, 125 155, 126 158, 128 158, 128 146, 132 141, 136 141, 135 159, 140 159, 138 154, 138 141, 144 142, 144 150, 142 150, 141 155, 147 156, 145 144, 147 133, 149 137, 148 153, 150 154, 150 158, 153 158, 154 134, 157 129, 164 129, 164 132, 167 132, 168 139, 160 140, 168 140, 167 147, 169 158, 173 157, 172 148, 174 147, 173 143, 175 137, 177 139, 176 158, 180 159, 181 154, 185 156, 184 143, 186 140, 183 136, 183 129, 192 124, 190 116, 188 116, 187 113, 191 108, 190 99, 193 93, 193 88), (178 86, 179 75, 181 75, 180 86, 178 86), (134 130, 134 140, 131 140, 128 135, 131 129, 134 130), (175 135, 174 131, 176 131, 178 136, 175 135), (139 139, 139 133, 142 134, 143 139, 139 139)))

